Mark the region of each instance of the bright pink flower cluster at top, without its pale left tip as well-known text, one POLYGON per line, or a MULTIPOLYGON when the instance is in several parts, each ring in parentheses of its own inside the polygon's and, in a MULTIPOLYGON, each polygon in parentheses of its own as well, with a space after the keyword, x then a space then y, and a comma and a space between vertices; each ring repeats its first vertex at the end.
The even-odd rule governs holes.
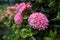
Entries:
POLYGON ((16 10, 19 12, 24 13, 25 11, 28 11, 31 8, 30 3, 20 3, 17 7, 16 10))

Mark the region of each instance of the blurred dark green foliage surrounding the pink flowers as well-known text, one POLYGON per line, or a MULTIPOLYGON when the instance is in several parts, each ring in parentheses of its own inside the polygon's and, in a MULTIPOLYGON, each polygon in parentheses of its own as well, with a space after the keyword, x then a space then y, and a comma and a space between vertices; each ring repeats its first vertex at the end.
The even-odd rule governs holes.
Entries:
MULTIPOLYGON (((24 16, 24 19, 27 17, 28 16, 24 16)), ((5 19, 7 19, 7 17, 5 17, 5 19)), ((29 25, 26 26, 29 27, 29 25)), ((0 39, 4 34, 5 36, 3 36, 3 38, 5 38, 5 40, 60 40, 60 0, 0 0, 0 39), (7 22, 4 22, 4 17, 1 18, 1 15, 4 15, 3 12, 8 6, 21 2, 31 3, 31 12, 27 13, 36 11, 46 14, 50 21, 49 28, 37 32, 37 30, 32 30, 31 28, 21 29, 22 25, 19 25, 21 27, 19 31, 19 29, 15 30, 16 25, 13 24, 11 27, 13 30, 8 30, 7 27, 10 26, 7 22)))

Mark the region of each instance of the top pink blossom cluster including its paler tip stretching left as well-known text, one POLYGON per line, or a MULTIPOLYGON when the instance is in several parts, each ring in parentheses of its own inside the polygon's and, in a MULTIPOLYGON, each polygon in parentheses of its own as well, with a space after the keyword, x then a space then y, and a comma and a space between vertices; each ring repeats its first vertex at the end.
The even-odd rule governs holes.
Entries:
POLYGON ((30 3, 20 3, 20 4, 16 4, 15 6, 10 6, 9 7, 10 9, 13 9, 13 10, 17 10, 18 12, 25 12, 27 10, 29 10, 31 8, 31 5, 30 3))

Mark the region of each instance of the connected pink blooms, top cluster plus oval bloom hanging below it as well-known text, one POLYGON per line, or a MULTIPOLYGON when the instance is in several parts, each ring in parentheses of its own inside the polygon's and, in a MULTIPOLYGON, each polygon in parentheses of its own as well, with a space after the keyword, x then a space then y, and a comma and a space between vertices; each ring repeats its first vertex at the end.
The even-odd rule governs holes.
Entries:
MULTIPOLYGON (((16 6, 16 10, 18 11, 18 13, 16 14, 16 16, 14 17, 14 22, 16 24, 21 24, 23 22, 23 16, 22 13, 24 13, 25 11, 29 10, 29 8, 31 7, 30 3, 20 3, 16 6)), ((15 7, 13 7, 14 9, 15 7)))

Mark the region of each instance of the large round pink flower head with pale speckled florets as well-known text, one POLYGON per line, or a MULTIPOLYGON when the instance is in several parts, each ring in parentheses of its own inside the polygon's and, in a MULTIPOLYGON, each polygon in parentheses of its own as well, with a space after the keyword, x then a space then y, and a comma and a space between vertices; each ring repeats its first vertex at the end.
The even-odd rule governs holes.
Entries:
POLYGON ((28 22, 34 29, 45 30, 45 28, 48 28, 47 26, 49 21, 44 14, 35 12, 29 16, 28 22))

